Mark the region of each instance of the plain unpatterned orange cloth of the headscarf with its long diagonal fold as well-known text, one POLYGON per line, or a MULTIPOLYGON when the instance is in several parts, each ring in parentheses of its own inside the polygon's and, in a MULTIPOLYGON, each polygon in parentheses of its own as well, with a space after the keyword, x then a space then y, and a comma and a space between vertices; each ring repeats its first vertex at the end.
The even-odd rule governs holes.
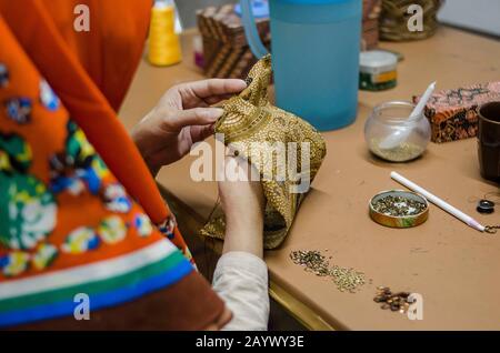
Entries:
MULTIPOLYGON (((110 105, 118 108, 130 84, 150 9, 151 2, 143 0, 0 0, 4 20, 71 118, 152 222, 160 224, 168 206, 110 105), (89 32, 72 28, 73 4, 89 6, 89 32)), ((180 234, 177 238, 177 245, 186 248, 180 234)))

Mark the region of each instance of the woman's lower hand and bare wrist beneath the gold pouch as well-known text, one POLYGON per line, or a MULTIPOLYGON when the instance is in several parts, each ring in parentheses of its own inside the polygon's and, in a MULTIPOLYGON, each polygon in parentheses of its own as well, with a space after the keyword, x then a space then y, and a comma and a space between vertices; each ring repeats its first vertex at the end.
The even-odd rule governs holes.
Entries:
POLYGON ((226 170, 237 171, 244 180, 219 182, 221 205, 226 214, 223 252, 244 251, 263 255, 264 194, 260 181, 251 181, 257 171, 246 160, 226 158, 226 170))

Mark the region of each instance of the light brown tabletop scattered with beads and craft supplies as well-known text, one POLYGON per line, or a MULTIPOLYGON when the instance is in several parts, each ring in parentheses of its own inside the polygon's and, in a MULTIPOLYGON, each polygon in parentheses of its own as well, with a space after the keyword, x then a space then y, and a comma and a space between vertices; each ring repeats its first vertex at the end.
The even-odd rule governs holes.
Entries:
MULTIPOLYGON (((154 68, 141 62, 120 112, 128 128, 172 84, 203 78, 192 63, 193 33, 182 36, 181 64, 154 68)), ((383 228, 368 215, 368 200, 373 194, 402 188, 389 178, 396 170, 482 223, 500 223, 500 210, 491 215, 474 211, 474 200, 498 191, 479 175, 476 139, 431 143, 421 159, 391 164, 370 155, 363 124, 377 103, 409 100, 433 80, 441 89, 500 80, 500 42, 441 28, 429 40, 381 47, 404 54, 398 67, 398 87, 360 92, 356 123, 324 133, 328 157, 313 190, 287 241, 266 253, 271 296, 310 329, 498 330, 500 234, 479 233, 433 205, 429 220, 414 229, 383 228), (333 263, 363 271, 372 284, 356 294, 341 293, 330 280, 304 272, 289 259, 292 250, 326 249, 333 263), (423 320, 410 321, 379 309, 372 300, 378 285, 421 293, 423 320)), ((192 161, 188 157, 163 168, 158 181, 182 201, 190 215, 203 220, 216 201, 217 185, 193 182, 189 176, 192 161)))

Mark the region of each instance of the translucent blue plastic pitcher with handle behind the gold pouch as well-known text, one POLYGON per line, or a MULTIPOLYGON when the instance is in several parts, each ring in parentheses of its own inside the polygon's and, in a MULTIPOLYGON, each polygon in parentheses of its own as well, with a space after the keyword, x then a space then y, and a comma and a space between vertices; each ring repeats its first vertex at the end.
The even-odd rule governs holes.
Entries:
MULTIPOLYGON (((249 0, 241 0, 250 47, 257 36, 249 0)), ((277 105, 321 131, 352 123, 358 107, 361 0, 270 0, 277 105)))

